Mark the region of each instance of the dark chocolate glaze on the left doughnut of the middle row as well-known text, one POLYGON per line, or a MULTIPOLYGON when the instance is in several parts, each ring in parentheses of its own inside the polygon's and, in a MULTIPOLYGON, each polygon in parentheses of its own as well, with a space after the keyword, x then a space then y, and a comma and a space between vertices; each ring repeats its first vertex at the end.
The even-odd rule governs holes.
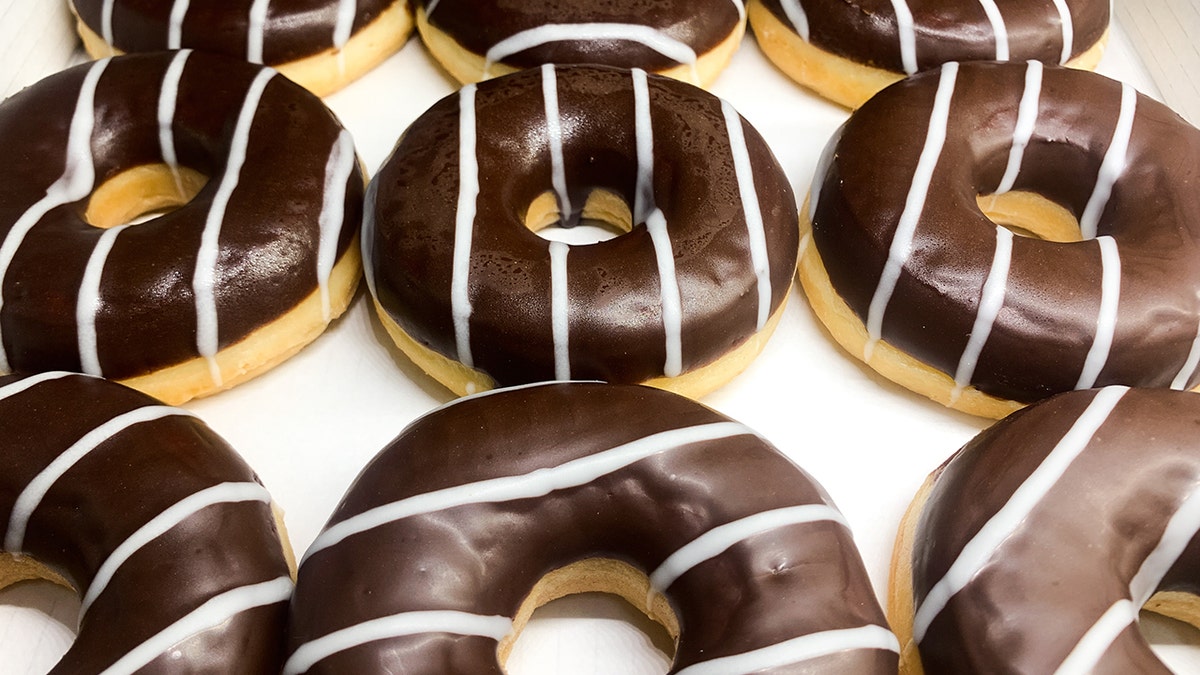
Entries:
MULTIPOLYGON (((172 62, 184 64, 178 96, 167 96, 175 103, 170 130, 178 163, 209 181, 188 204, 132 226, 114 240, 95 319, 100 371, 125 378, 199 356, 193 273, 206 219, 222 179, 233 171, 230 148, 239 139, 247 143, 245 163, 220 223, 218 346, 240 341, 317 291, 326 165, 335 143, 348 142, 318 98, 272 77, 253 112, 248 137, 240 137, 236 120, 252 82, 263 72, 259 66, 200 52, 137 54, 83 65, 0 106, 0 138, 10 157, 0 167, 0 240, 17 246, 2 275, 0 307, 0 335, 11 370, 83 368, 77 324, 80 283, 106 233, 83 220, 90 195, 53 208, 23 239, 14 225, 46 197, 68 161, 82 162, 79 173, 94 167, 92 187, 126 169, 167 161, 156 113, 172 62), (86 154, 68 156, 67 143, 82 84, 94 68, 103 70, 90 110, 95 126, 89 161, 86 154)), ((86 117, 89 110, 79 113, 86 117)), ((338 227, 338 259, 361 220, 362 183, 355 163, 343 203, 330 211, 330 222, 338 227)))

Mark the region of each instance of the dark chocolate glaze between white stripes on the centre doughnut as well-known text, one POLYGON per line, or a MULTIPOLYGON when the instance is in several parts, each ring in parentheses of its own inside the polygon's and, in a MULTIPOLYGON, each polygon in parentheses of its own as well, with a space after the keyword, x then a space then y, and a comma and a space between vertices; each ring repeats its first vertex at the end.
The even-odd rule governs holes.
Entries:
MULTIPOLYGON (((644 74, 644 73, 642 73, 644 74)), ((469 334, 474 368, 499 384, 556 377, 550 241, 524 226, 535 197, 553 190, 544 78, 557 78, 566 222, 605 189, 638 209, 637 115, 629 71, 568 66, 488 80, 474 91, 481 192, 474 202, 469 334)), ((649 76, 653 178, 648 213, 665 215, 682 300, 683 371, 704 365, 760 328, 758 279, 720 100, 649 76)), ((372 180, 364 235, 373 292, 418 342, 449 358, 460 199, 460 107, 434 104, 401 138, 372 180)), ((733 113, 736 115, 736 113, 733 113)), ((787 295, 797 253, 794 197, 766 142, 740 118, 769 252, 769 310, 787 295)), ((559 197, 562 205, 564 199, 559 197)), ((646 216, 624 235, 571 246, 570 377, 641 382, 664 374, 664 300, 646 216)), ((763 286, 766 288, 766 286, 763 286)), ((769 313, 769 312, 767 312, 769 313)))

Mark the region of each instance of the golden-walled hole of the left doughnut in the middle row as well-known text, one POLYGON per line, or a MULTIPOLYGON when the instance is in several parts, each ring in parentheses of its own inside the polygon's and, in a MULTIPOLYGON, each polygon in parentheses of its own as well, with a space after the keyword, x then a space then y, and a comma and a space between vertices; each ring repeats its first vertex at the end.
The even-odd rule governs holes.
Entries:
POLYGON ((203 173, 168 165, 143 165, 109 178, 92 191, 84 220, 108 229, 144 222, 192 201, 209 178, 203 173))

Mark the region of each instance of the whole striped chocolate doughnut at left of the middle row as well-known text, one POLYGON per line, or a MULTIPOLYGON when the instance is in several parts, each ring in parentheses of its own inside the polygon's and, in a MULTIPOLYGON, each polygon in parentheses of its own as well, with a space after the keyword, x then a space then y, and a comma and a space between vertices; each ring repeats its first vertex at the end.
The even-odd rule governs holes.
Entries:
POLYGON ((188 50, 85 64, 0 104, 0 372, 179 404, 289 357, 354 293, 353 139, 270 68, 188 50))

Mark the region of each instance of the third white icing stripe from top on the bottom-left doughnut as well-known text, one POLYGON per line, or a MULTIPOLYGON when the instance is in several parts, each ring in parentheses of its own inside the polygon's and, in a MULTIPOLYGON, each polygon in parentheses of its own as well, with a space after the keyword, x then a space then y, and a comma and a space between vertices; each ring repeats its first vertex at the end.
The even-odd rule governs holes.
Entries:
POLYGON ((96 571, 96 575, 88 586, 88 592, 84 593, 83 602, 79 607, 80 619, 88 614, 88 609, 96 601, 96 598, 104 592, 109 581, 113 580, 113 575, 116 574, 116 571, 125 565, 125 561, 127 561, 130 556, 142 550, 142 548, 150 542, 166 534, 180 522, 196 515, 204 508, 238 502, 270 503, 271 495, 268 494, 266 488, 263 488, 258 483, 221 483, 184 497, 142 527, 138 527, 137 531, 130 534, 127 539, 121 542, 121 544, 116 546, 112 554, 109 554, 109 556, 100 566, 100 569, 96 571))

